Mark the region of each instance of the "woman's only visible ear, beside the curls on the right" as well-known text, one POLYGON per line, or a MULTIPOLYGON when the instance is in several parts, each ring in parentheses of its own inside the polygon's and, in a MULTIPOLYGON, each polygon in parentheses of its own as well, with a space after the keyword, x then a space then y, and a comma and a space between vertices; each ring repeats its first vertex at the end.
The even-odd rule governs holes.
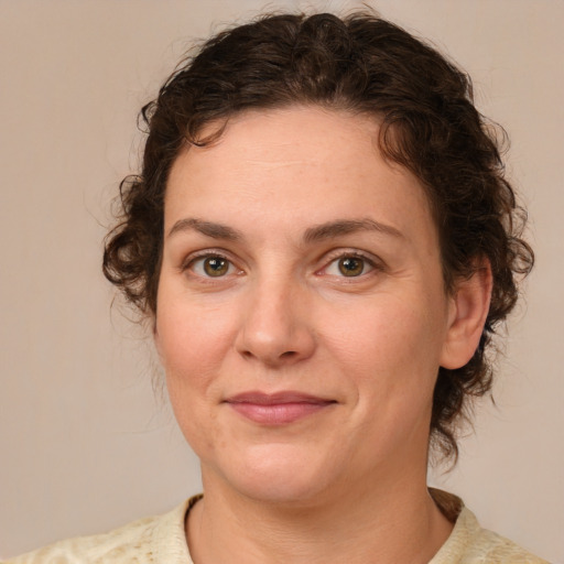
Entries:
POLYGON ((488 316, 491 286, 491 265, 487 259, 479 261, 469 279, 456 282, 441 354, 442 367, 460 368, 474 356, 488 316))

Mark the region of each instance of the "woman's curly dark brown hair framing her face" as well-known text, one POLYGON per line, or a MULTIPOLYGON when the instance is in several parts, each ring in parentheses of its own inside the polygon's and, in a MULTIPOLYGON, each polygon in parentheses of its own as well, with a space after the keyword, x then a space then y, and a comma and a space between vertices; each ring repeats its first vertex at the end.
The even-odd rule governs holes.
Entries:
MULTIPOLYGON (((491 305, 479 346, 458 369, 440 368, 431 437, 456 459, 457 423, 491 387, 487 350, 533 264, 520 238, 524 212, 503 176, 499 142, 473 102, 469 77, 437 51, 372 12, 268 14, 218 33, 181 63, 143 107, 142 172, 120 185, 118 225, 104 273, 145 316, 156 313, 167 176, 186 143, 221 135, 248 109, 316 105, 378 119, 382 154, 414 173, 438 229, 445 288, 491 264, 491 305), (203 128, 218 123, 203 139, 203 128)), ((497 129, 500 131, 500 129, 497 129)))

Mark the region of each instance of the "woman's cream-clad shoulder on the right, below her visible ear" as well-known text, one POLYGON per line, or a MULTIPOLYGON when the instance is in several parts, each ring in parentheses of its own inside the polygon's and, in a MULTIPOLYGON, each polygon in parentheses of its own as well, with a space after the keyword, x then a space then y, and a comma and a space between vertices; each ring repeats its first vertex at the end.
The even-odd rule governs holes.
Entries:
POLYGON ((549 564, 509 539, 482 529, 474 513, 460 502, 453 532, 430 564, 494 562, 496 564, 549 564))

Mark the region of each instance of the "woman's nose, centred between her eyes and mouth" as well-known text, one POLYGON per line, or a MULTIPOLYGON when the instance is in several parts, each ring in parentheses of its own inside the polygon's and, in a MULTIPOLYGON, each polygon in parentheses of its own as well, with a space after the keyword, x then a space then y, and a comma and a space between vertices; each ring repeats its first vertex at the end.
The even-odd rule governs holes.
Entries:
POLYGON ((272 368, 310 358, 316 341, 306 292, 280 282, 249 289, 236 339, 239 354, 272 368))

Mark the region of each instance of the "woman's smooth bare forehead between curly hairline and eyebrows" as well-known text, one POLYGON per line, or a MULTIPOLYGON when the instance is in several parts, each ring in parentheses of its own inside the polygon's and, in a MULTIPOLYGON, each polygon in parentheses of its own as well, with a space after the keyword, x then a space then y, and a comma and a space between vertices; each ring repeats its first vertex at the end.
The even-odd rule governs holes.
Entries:
MULTIPOLYGON (((217 127, 208 126, 203 137, 217 127)), ((186 148, 176 159, 165 228, 183 214, 250 221, 265 208, 280 225, 322 224, 337 212, 344 218, 367 212, 397 227, 424 224, 429 204, 420 182, 382 158, 378 132, 373 118, 318 107, 236 116, 216 142, 186 148)))

